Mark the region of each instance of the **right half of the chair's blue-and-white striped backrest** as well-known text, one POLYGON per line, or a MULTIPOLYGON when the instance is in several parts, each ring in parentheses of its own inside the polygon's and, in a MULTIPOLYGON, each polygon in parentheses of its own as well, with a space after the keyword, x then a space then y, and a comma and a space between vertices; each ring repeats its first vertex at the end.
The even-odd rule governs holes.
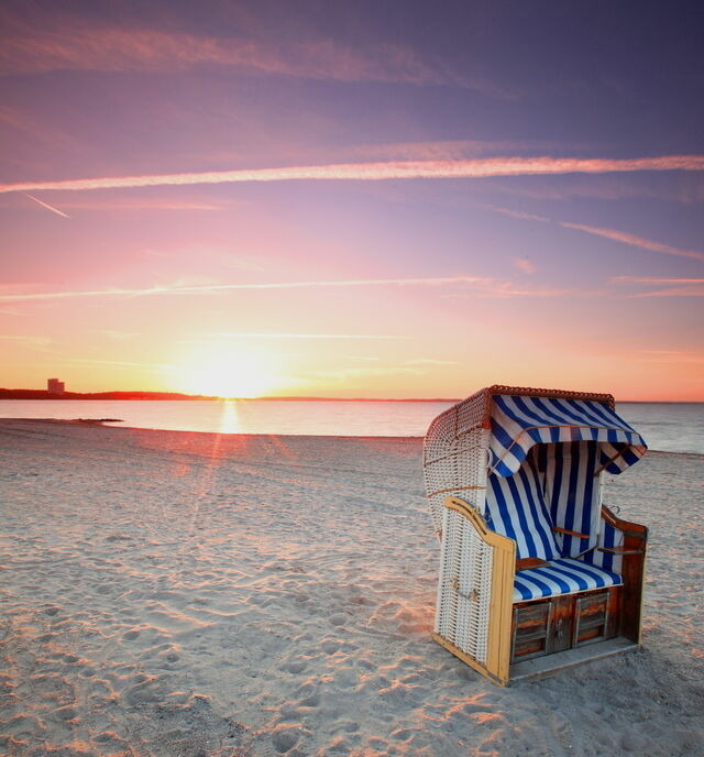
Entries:
POLYGON ((596 545, 601 515, 596 441, 536 445, 530 458, 540 473, 544 498, 554 526, 579 534, 556 534, 563 557, 576 557, 596 545))

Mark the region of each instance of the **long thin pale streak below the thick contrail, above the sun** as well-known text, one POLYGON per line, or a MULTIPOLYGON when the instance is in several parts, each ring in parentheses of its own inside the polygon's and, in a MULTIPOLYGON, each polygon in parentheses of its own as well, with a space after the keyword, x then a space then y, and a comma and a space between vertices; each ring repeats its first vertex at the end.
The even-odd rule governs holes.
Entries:
POLYGON ((426 278, 352 278, 344 281, 320 282, 266 282, 260 284, 204 284, 153 286, 142 289, 90 289, 85 292, 11 292, 0 294, 0 301, 41 301, 61 299, 80 299, 85 297, 155 297, 179 295, 210 295, 238 290, 266 289, 315 289, 315 288, 348 288, 348 287, 453 287, 465 295, 479 297, 560 297, 564 295, 592 296, 594 293, 574 289, 557 289, 551 287, 518 287, 510 282, 502 282, 484 276, 437 276, 426 278))

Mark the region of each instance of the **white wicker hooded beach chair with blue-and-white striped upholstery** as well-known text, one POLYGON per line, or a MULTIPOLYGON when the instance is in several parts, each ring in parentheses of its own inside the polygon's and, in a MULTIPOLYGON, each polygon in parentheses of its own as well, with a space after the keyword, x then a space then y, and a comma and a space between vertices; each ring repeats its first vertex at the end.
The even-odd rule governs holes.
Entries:
POLYGON ((501 685, 637 646, 647 529, 602 493, 646 449, 606 394, 497 385, 439 415, 433 638, 501 685))

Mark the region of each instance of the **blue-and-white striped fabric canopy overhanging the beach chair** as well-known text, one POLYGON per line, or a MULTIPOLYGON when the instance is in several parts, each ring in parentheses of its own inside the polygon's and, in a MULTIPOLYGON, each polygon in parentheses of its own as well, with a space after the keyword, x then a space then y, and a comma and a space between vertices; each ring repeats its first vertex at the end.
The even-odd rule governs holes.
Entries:
POLYGON ((513 475, 530 448, 556 441, 600 442, 600 465, 620 473, 645 453, 642 437, 604 403, 494 395, 490 469, 513 475))

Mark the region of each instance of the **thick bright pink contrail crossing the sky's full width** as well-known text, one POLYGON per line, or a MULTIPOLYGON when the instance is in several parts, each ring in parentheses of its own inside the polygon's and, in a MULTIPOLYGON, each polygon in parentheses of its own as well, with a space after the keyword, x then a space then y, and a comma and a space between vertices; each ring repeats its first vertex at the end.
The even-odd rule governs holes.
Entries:
POLYGON ((210 171, 29 182, 0 185, 0 193, 116 189, 153 186, 190 186, 243 182, 361 180, 411 178, 487 178, 554 174, 604 174, 634 171, 704 171, 704 155, 664 155, 626 160, 572 157, 491 157, 466 161, 391 161, 340 163, 279 168, 210 171))

